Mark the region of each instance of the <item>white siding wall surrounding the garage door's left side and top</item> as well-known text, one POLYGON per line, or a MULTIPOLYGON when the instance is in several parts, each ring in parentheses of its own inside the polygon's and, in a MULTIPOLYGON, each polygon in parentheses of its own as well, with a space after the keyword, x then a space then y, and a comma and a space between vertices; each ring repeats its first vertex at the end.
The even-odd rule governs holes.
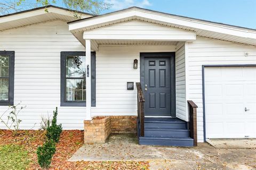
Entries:
POLYGON ((188 43, 186 64, 187 99, 198 106, 197 134, 198 141, 203 142, 202 65, 256 64, 256 47, 197 37, 188 43), (245 52, 249 56, 244 56, 245 52))

